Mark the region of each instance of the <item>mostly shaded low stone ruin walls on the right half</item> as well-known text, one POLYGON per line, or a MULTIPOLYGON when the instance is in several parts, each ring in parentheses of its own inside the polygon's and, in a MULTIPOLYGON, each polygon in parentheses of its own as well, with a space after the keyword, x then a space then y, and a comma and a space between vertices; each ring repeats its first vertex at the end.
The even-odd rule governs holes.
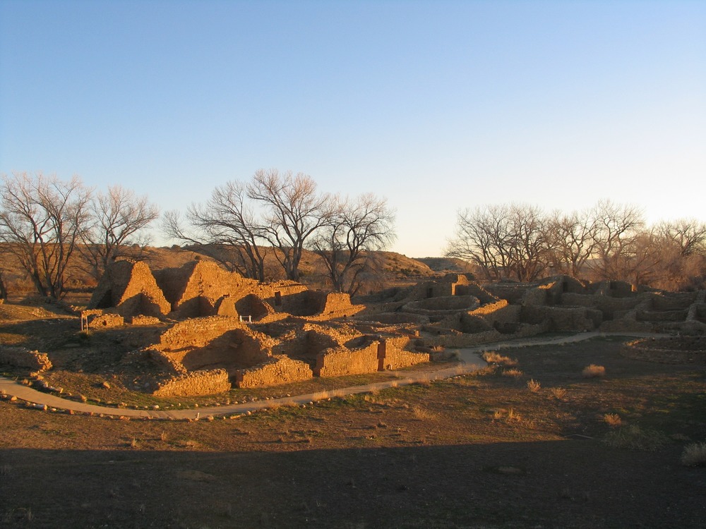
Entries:
POLYGON ((545 332, 706 332, 706 291, 671 293, 623 281, 554 276, 480 286, 465 275, 424 281, 378 300, 371 326, 417 327, 426 344, 465 347, 545 332))

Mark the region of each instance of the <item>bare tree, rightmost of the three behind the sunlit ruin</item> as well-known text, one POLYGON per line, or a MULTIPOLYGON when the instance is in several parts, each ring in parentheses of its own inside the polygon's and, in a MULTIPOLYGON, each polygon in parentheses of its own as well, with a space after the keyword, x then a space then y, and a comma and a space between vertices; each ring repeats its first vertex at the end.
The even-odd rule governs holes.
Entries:
POLYGON ((395 238, 395 214, 387 200, 371 193, 336 200, 328 224, 313 240, 333 289, 354 294, 369 271, 371 252, 383 250, 395 238))

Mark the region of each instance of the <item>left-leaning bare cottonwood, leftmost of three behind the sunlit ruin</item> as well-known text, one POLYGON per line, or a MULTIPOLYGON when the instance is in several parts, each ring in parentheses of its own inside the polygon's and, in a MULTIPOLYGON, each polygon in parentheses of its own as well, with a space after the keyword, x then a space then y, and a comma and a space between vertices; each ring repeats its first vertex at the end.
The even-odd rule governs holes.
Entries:
POLYGON ((249 200, 244 183, 228 182, 215 188, 205 205, 189 206, 186 223, 191 229, 184 228, 179 213, 171 211, 164 214, 162 231, 180 241, 202 245, 228 269, 265 281, 265 229, 249 200))

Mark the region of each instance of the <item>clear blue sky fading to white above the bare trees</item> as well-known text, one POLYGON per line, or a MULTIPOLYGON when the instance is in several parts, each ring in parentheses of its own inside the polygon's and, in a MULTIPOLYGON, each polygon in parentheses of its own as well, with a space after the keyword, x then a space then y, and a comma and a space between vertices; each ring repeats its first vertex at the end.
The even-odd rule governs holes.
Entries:
POLYGON ((167 210, 260 168, 410 257, 484 204, 706 220, 706 2, 0 0, 0 173, 167 210))

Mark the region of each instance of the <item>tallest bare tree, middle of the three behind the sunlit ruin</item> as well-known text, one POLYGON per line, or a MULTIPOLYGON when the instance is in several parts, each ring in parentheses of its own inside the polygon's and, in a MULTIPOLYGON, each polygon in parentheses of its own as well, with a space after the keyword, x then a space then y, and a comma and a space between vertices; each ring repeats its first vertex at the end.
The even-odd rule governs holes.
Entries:
POLYGON ((276 169, 256 171, 247 195, 263 207, 261 235, 279 252, 275 253, 287 279, 299 281, 299 262, 306 241, 328 224, 332 199, 318 193, 311 176, 276 169))

